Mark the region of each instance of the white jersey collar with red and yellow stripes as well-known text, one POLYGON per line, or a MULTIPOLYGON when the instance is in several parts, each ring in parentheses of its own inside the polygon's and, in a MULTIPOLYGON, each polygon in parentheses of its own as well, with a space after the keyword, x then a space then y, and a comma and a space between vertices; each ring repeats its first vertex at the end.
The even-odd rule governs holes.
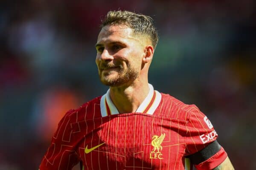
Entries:
MULTIPOLYGON (((136 112, 139 113, 148 113, 153 114, 154 111, 157 109, 160 101, 161 101, 161 94, 154 90, 153 86, 151 84, 148 84, 149 86, 149 92, 144 101, 141 103, 139 108, 136 112)), ((100 109, 102 117, 113 115, 113 114, 119 114, 119 111, 117 110, 116 106, 113 104, 111 98, 110 98, 110 90, 108 89, 107 93, 104 94, 100 100, 100 109)))

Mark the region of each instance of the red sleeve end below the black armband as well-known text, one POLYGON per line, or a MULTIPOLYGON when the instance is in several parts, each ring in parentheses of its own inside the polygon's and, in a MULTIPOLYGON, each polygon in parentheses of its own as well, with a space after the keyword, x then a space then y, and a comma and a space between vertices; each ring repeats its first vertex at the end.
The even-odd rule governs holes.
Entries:
POLYGON ((221 150, 218 151, 214 156, 210 157, 206 161, 195 165, 197 170, 212 170, 215 167, 218 167, 225 159, 227 158, 227 153, 221 147, 221 150))

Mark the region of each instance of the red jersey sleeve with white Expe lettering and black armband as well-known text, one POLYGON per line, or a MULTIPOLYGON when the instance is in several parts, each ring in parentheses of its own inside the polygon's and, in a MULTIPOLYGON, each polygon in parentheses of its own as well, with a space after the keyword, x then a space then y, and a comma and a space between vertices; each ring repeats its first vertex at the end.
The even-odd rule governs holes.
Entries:
MULTIPOLYGON (((217 143, 215 141, 218 138, 218 134, 207 116, 195 105, 191 105, 188 113, 186 155, 198 156, 198 161, 192 162, 198 170, 214 169, 227 158, 227 153, 221 146, 218 149, 215 148, 214 152, 212 152, 212 148, 209 149, 212 146, 218 147, 217 144, 212 144, 217 143)), ((194 156, 194 160, 195 158, 197 157, 194 156)))

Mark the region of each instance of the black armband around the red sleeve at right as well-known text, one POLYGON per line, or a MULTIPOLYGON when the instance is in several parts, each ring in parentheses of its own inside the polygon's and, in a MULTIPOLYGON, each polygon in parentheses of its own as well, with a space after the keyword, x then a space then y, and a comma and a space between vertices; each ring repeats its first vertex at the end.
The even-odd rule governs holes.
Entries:
POLYGON ((194 153, 189 156, 192 164, 200 164, 203 161, 206 161, 221 149, 221 145, 218 144, 217 141, 214 141, 207 145, 204 149, 198 151, 197 153, 194 153))

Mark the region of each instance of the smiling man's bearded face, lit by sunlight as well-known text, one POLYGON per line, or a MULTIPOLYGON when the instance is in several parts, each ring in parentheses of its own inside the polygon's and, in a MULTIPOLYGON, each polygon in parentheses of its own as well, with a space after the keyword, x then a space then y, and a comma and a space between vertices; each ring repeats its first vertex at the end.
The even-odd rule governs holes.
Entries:
POLYGON ((105 26, 96 43, 96 64, 103 84, 118 87, 140 75, 143 41, 124 25, 105 26))

